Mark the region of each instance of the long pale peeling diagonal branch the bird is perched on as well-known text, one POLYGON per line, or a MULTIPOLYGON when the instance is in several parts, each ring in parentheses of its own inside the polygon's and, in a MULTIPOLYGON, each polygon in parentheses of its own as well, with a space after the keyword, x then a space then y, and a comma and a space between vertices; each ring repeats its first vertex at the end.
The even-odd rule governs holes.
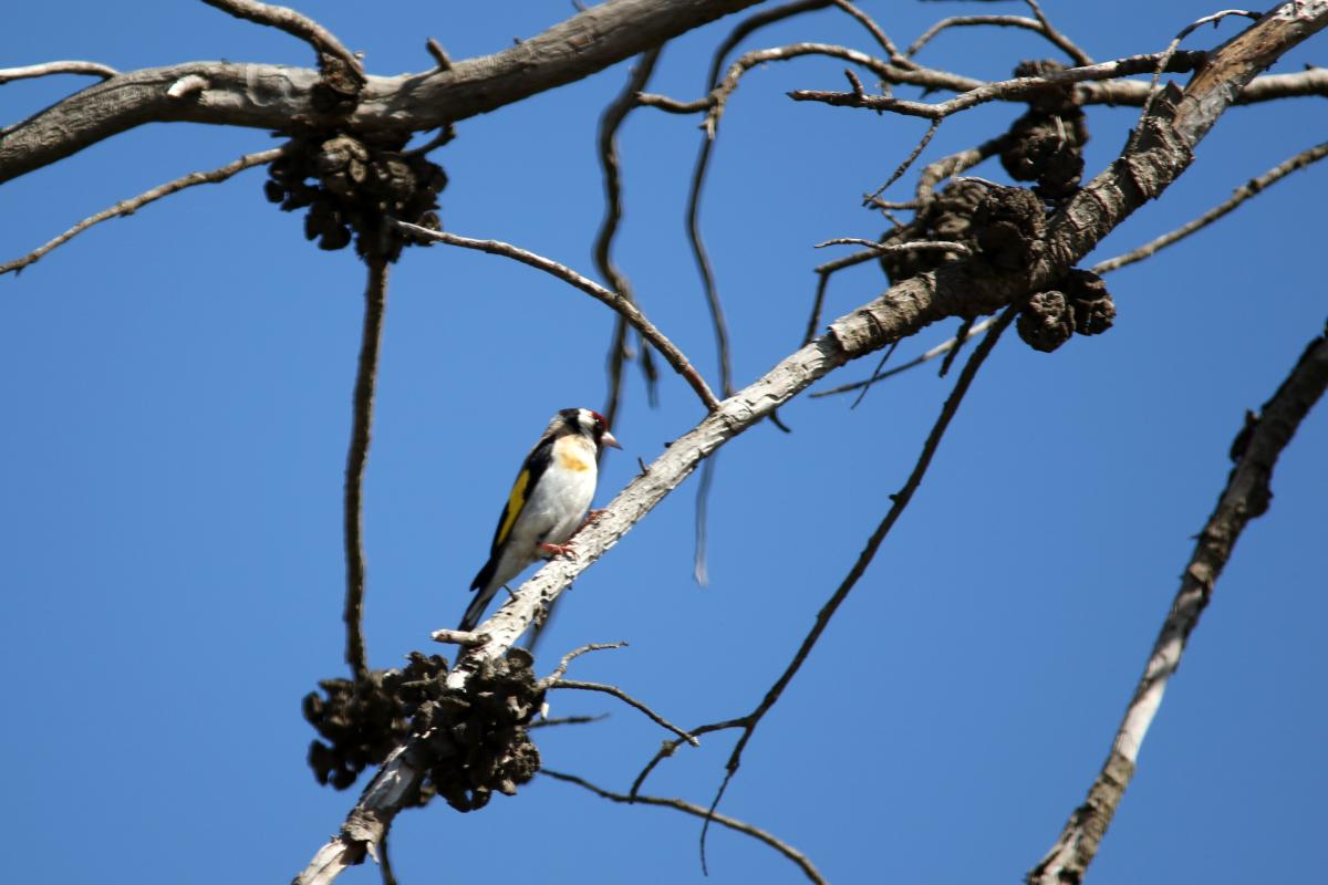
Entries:
MULTIPOLYGON (((463 686, 482 662, 507 651, 540 609, 612 548, 697 466, 780 405, 849 361, 951 316, 1000 310, 1029 292, 1060 280, 1130 212, 1161 194, 1193 159, 1194 146, 1231 105, 1256 70, 1328 27, 1328 3, 1286 3, 1216 49, 1183 93, 1169 88, 1143 122, 1146 131, 1074 195, 1049 222, 1045 251, 1028 268, 973 272, 971 261, 947 264, 904 280, 880 297, 841 317, 829 332, 788 356, 677 438, 576 536, 578 557, 554 560, 527 580, 477 633, 483 645, 467 649, 448 678, 463 686)), ((692 734, 699 734, 700 730, 692 734)), ((341 833, 320 848, 299 882, 328 882, 359 862, 384 825, 405 805, 426 771, 425 744, 412 739, 393 751, 347 816, 341 833)))

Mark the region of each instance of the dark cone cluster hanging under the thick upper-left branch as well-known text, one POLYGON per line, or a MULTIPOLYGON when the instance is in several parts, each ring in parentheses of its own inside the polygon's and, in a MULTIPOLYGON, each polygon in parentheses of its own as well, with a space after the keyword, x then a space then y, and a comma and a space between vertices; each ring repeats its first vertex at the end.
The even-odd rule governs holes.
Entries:
POLYGON ((304 236, 320 249, 351 244, 364 256, 394 261, 404 240, 385 218, 440 230, 442 167, 404 145, 376 143, 345 133, 293 139, 268 167, 264 194, 283 211, 307 208, 304 236))

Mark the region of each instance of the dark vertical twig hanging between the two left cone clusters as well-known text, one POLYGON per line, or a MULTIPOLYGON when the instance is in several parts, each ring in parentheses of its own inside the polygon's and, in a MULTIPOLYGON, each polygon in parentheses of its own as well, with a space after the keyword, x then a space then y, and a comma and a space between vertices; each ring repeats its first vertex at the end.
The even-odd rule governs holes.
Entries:
POLYGON ((364 328, 360 361, 355 374, 355 417, 351 446, 345 454, 345 662, 355 681, 369 675, 364 649, 364 466, 369 460, 373 429, 373 390, 378 377, 378 345, 382 342, 382 312, 388 303, 388 261, 365 260, 369 284, 364 291, 364 328))

